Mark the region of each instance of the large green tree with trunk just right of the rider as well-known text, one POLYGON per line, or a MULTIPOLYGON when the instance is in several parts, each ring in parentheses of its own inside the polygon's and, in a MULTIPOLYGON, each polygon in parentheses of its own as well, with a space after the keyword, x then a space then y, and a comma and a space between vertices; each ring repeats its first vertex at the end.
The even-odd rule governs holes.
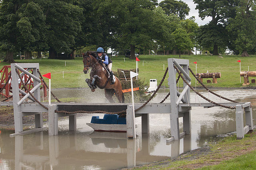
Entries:
POLYGON ((135 59, 134 51, 142 41, 152 37, 151 23, 154 18, 156 0, 106 0, 105 8, 111 6, 111 17, 116 18, 118 29, 111 32, 118 43, 130 46, 130 59, 135 59))

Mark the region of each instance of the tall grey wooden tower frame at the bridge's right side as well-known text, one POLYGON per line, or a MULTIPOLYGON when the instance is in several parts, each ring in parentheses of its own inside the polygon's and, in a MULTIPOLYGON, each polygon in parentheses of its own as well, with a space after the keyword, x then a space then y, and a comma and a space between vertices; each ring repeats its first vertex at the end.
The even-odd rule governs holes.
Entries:
POLYGON ((191 78, 189 77, 189 61, 184 59, 168 59, 168 68, 169 68, 169 78, 168 85, 170 86, 170 102, 171 102, 171 114, 170 114, 170 125, 171 125, 171 135, 174 140, 179 140, 182 135, 191 133, 190 125, 190 109, 187 107, 185 109, 179 108, 179 103, 190 103, 190 88, 183 82, 184 90, 179 94, 176 84, 176 74, 177 70, 174 65, 180 70, 184 75, 184 78, 187 82, 191 84, 191 78), (179 96, 177 96, 177 94, 179 96), (183 113, 183 114, 182 114, 183 113), (179 127, 179 117, 183 117, 183 132, 180 133, 179 127))

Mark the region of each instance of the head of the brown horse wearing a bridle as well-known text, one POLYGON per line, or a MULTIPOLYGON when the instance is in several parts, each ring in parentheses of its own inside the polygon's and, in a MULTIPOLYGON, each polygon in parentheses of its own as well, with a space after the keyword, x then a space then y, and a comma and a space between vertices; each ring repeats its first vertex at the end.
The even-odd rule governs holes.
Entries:
POLYGON ((90 67, 92 67, 96 62, 97 53, 93 51, 87 51, 86 53, 82 53, 83 55, 83 63, 84 63, 84 74, 88 73, 90 67))

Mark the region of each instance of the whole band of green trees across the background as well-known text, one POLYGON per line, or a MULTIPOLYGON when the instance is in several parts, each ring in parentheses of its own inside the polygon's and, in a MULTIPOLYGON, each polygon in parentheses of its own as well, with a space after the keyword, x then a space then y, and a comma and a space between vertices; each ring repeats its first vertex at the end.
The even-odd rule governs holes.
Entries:
POLYGON ((181 0, 1 0, 0 51, 13 63, 14 54, 49 51, 71 54, 78 49, 103 47, 123 54, 145 50, 256 53, 254 0, 193 0, 202 20, 181 0))

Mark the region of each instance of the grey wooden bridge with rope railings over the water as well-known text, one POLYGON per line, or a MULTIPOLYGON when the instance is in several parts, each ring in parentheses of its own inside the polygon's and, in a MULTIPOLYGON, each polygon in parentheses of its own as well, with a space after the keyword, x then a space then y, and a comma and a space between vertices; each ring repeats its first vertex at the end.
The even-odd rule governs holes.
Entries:
MULTIPOLYGON (((253 130, 252 123, 252 107, 250 102, 237 103, 235 101, 226 103, 215 103, 206 99, 209 103, 190 103, 191 78, 189 76, 189 61, 183 59, 168 59, 168 85, 170 86, 170 103, 160 104, 79 104, 79 103, 42 103, 40 102, 40 72, 39 63, 13 63, 11 64, 12 72, 12 89, 13 89, 13 106, 14 106, 14 126, 15 133, 10 134, 10 137, 33 133, 46 130, 42 123, 42 112, 48 112, 48 131, 50 136, 58 135, 58 117, 69 117, 69 130, 76 131, 76 113, 126 113, 127 137, 136 138, 136 129, 134 119, 141 117, 142 133, 149 133, 149 114, 151 113, 166 113, 170 114, 170 129, 172 137, 167 140, 179 140, 183 135, 190 135, 190 110, 192 107, 226 107, 236 109, 236 132, 237 139, 244 138, 244 134, 253 130), (32 70, 32 73, 29 71, 32 70), (30 90, 26 89, 26 94, 18 86, 18 80, 21 79, 19 72, 27 74, 34 80, 34 87, 30 90), (176 74, 179 74, 183 80, 184 88, 181 93, 177 90, 176 74), (21 92, 22 91, 22 92, 21 92), (20 99, 20 93, 23 97, 20 99), (32 102, 29 102, 28 99, 32 102), (135 112, 133 111, 135 110, 135 112), (26 115, 35 115, 35 129, 23 131, 22 117, 26 115), (244 126, 244 116, 246 125, 244 126), (180 132, 179 118, 183 119, 183 131, 180 132)), ((167 73, 167 70, 166 70, 167 73)), ((165 73, 165 75, 166 75, 165 73)), ((164 77, 165 77, 164 75, 164 77)), ((164 79, 164 78, 163 78, 164 79)), ((21 81, 23 82, 23 81, 21 81)), ((161 81, 159 87, 163 81, 161 81)), ((158 87, 158 89, 159 89, 158 87)), ((158 90, 157 89, 157 90, 158 90)), ((196 91, 195 91, 196 92, 196 91)), ((156 92, 155 92, 156 93, 156 92)), ((154 93, 154 94, 155 94, 154 93)), ((200 95, 198 93, 198 95, 200 95)), ((3 103, 1 105, 8 105, 3 103)))

